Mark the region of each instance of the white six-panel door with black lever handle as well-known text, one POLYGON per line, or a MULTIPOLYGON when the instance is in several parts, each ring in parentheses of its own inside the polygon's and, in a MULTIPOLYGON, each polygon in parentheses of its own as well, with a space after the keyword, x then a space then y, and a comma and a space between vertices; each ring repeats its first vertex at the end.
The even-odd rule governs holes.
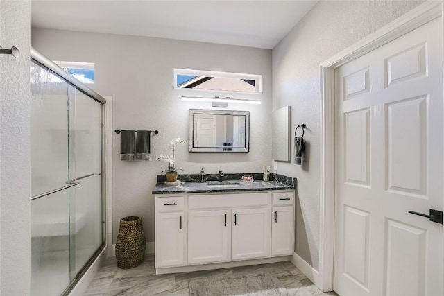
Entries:
POLYGON ((441 21, 335 70, 339 295, 444 294, 441 21))

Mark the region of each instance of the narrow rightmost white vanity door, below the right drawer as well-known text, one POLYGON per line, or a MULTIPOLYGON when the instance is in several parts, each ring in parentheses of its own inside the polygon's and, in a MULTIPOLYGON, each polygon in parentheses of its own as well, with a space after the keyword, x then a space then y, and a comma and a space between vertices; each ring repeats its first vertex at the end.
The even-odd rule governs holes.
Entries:
POLYGON ((293 207, 273 207, 271 256, 293 254, 293 207))

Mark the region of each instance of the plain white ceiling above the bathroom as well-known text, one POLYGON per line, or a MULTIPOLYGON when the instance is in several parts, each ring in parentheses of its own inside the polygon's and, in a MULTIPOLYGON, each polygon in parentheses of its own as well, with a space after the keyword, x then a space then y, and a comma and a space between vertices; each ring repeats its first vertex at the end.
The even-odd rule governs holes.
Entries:
POLYGON ((31 1, 31 26, 273 49, 317 1, 31 1))

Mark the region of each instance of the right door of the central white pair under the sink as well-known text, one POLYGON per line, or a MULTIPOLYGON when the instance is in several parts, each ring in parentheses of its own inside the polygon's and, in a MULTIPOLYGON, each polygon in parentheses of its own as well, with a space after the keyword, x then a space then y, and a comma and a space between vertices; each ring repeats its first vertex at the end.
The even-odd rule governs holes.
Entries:
POLYGON ((232 211, 232 260, 270 256, 270 209, 232 211))

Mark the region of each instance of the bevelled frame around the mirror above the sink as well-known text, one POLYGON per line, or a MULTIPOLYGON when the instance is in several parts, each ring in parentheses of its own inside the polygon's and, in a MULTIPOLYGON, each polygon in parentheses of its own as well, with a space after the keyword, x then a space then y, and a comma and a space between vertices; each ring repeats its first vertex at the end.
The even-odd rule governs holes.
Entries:
POLYGON ((205 109, 189 109, 189 132, 188 143, 189 152, 248 152, 250 150, 250 112, 249 111, 232 111, 232 110, 205 110, 205 109), (223 147, 194 147, 194 114, 210 114, 210 115, 239 115, 245 116, 245 146, 234 148, 232 146, 223 147), (230 148, 230 150, 227 150, 230 148))

